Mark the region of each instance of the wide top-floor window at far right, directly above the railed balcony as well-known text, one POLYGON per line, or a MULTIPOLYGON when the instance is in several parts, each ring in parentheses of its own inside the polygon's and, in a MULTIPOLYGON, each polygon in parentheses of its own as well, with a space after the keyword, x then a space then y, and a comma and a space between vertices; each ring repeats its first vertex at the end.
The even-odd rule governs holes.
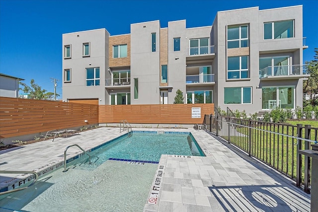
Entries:
POLYGON ((264 40, 293 37, 294 20, 264 23, 264 40))

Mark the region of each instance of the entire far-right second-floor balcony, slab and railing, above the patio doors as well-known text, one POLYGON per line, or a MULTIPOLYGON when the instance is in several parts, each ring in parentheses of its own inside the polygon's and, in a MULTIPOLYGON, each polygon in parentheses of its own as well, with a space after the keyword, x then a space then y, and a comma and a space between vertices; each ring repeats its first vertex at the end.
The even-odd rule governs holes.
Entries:
POLYGON ((300 79, 310 76, 306 65, 269 66, 259 70, 260 80, 300 79))

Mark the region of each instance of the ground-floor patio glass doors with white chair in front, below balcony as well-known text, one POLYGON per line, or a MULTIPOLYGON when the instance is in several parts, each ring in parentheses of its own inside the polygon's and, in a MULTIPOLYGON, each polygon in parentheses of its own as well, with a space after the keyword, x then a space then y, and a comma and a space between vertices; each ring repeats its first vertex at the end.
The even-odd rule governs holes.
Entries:
POLYGON ((294 87, 263 87, 262 109, 291 108, 294 109, 294 87))

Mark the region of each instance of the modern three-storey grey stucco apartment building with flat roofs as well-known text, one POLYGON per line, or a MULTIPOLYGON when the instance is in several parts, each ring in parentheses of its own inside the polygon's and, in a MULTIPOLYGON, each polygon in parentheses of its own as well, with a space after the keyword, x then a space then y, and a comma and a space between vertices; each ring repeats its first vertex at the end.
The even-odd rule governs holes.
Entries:
POLYGON ((186 20, 63 34, 63 100, 92 104, 214 103, 247 114, 303 104, 302 5, 220 11, 211 26, 186 20))

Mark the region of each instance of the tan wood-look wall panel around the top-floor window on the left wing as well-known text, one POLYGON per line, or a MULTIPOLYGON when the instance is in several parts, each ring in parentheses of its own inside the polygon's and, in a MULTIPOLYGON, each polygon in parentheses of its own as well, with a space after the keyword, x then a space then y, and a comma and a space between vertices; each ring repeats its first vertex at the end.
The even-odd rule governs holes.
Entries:
POLYGON ((130 66, 130 34, 118 35, 109 37, 109 67, 123 67, 130 66), (127 44, 127 57, 126 58, 113 58, 113 46, 127 44))

